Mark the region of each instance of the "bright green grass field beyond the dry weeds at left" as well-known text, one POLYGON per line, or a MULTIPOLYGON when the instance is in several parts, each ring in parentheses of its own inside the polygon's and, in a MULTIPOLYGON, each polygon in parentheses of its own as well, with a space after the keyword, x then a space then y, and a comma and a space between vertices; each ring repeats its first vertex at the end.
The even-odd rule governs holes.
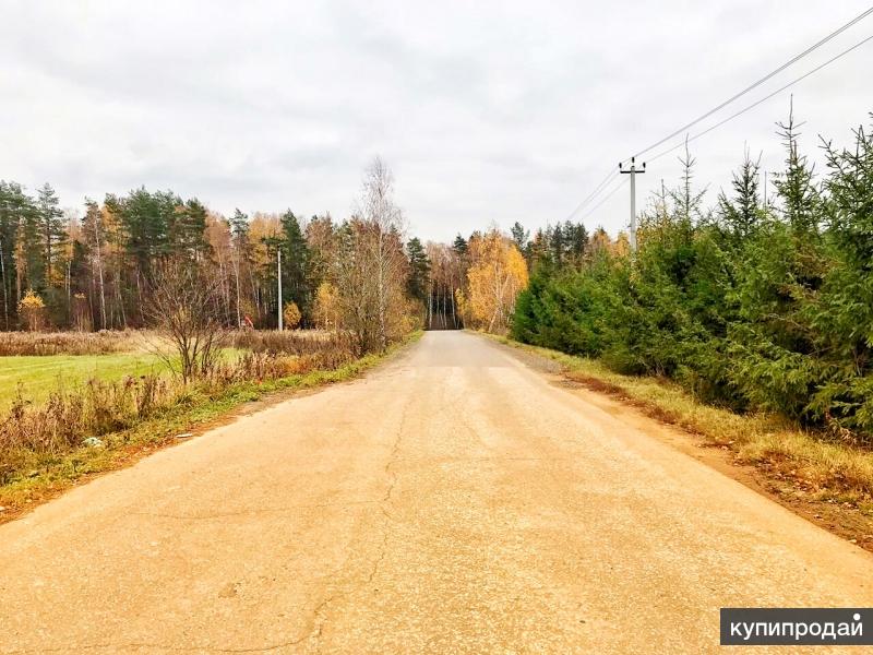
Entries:
POLYGON ((9 407, 19 392, 28 401, 43 401, 60 385, 70 388, 92 378, 119 380, 166 371, 166 365, 150 353, 110 355, 51 355, 0 357, 0 409, 9 407))

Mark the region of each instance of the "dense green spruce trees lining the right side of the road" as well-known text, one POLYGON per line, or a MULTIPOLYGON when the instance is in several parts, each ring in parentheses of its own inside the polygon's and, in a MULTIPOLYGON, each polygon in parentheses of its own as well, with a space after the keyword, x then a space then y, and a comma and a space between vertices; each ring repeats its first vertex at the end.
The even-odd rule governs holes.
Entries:
MULTIPOLYGON (((530 286, 512 334, 670 378, 738 410, 775 410, 835 436, 873 439, 873 139, 823 141, 817 175, 780 124, 785 166, 762 199, 746 155, 717 206, 703 206, 694 160, 641 219, 638 251, 524 242, 530 286)), ((521 235, 524 237, 524 235, 521 235)))

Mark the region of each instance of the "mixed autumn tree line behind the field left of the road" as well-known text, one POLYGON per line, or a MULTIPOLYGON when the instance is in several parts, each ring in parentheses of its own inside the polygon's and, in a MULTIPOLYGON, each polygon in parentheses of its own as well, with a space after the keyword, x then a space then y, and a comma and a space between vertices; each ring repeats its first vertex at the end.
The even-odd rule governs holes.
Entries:
POLYGON ((3 330, 148 326, 160 271, 181 262, 198 270, 225 326, 275 327, 283 311, 289 326, 351 330, 362 349, 379 349, 420 319, 421 254, 420 240, 404 243, 393 178, 380 159, 342 222, 290 210, 225 217, 196 199, 145 188, 86 200, 80 217, 60 209, 50 184, 31 194, 0 181, 3 330))

